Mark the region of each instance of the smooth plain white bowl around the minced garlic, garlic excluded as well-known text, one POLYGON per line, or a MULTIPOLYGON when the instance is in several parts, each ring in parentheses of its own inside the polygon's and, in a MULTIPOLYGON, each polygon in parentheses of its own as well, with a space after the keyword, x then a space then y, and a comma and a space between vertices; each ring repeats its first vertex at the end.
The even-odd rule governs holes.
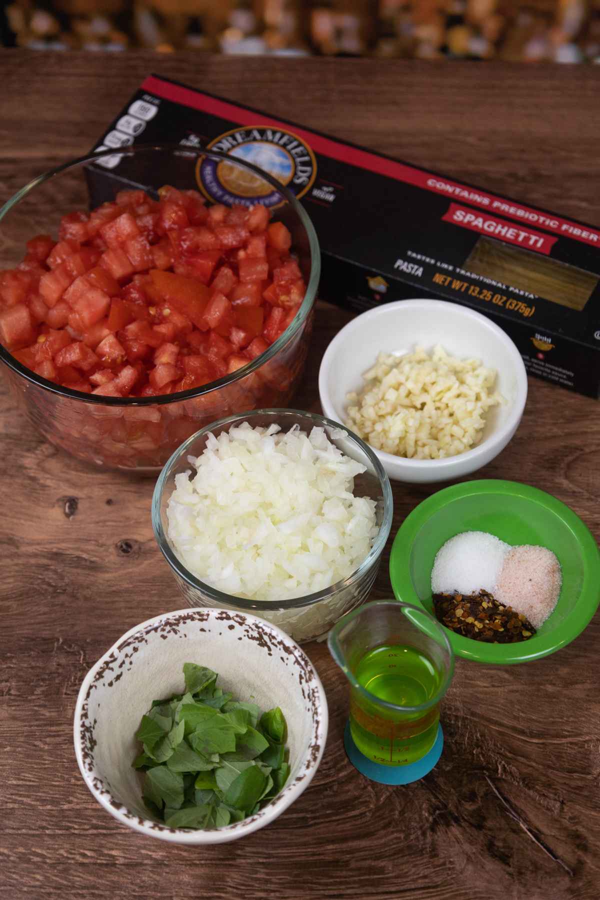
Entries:
POLYGON ((441 344, 452 356, 476 356, 497 371, 497 389, 506 404, 488 412, 477 446, 446 459, 406 459, 378 455, 391 479, 445 482, 476 472, 504 450, 518 428, 527 399, 527 373, 521 354, 506 332, 479 312, 450 301, 401 300, 364 312, 349 322, 327 347, 318 373, 318 392, 329 419, 345 422, 346 394, 360 391, 363 373, 379 353, 401 356, 416 345, 441 344))

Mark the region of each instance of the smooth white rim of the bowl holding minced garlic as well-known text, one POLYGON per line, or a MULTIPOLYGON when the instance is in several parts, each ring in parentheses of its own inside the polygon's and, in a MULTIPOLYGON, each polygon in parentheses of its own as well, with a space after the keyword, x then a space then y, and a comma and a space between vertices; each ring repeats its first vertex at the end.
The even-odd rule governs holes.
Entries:
MULTIPOLYGON (((331 395, 329 393, 329 373, 331 366, 333 365, 333 358, 340 347, 343 346, 348 336, 353 331, 363 327, 365 317, 377 319, 380 316, 385 317, 393 314, 400 309, 405 311, 429 309, 434 313, 434 311, 441 309, 441 307, 444 308, 444 311, 451 311, 451 315, 457 315, 485 326, 496 338, 498 338, 499 342, 505 348, 507 355, 513 362, 516 376, 516 396, 515 402, 510 407, 506 422, 501 428, 494 431, 493 434, 479 441, 479 444, 476 446, 471 447, 470 450, 465 450, 464 453, 458 455, 444 456, 443 459, 408 459, 406 456, 390 454, 385 450, 378 450, 376 447, 372 447, 372 451, 380 457, 381 462, 386 468, 389 466, 392 470, 396 469, 398 471, 415 474, 429 472, 432 475, 439 474, 444 470, 444 474, 447 475, 448 478, 452 478, 452 470, 454 468, 461 470, 467 468, 469 472, 473 472, 478 468, 478 463, 480 465, 486 464, 488 460, 485 457, 488 454, 490 446, 506 446, 506 443, 510 440, 510 437, 512 437, 515 428, 518 426, 518 423, 523 416, 525 403, 527 401, 527 370, 525 369, 523 357, 519 353, 515 342, 506 334, 506 331, 501 329, 496 322, 488 319, 487 316, 484 316, 483 313, 471 310, 470 307, 460 306, 452 300, 434 300, 429 298, 397 300, 391 303, 384 303, 374 310, 363 312, 353 320, 349 321, 343 329, 340 329, 337 332, 336 337, 333 338, 327 346, 318 371, 318 393, 323 410, 327 412, 327 415, 333 417, 336 410, 334 409, 334 404, 331 401, 331 395)), ((373 362, 374 361, 375 360, 373 359, 373 362)))

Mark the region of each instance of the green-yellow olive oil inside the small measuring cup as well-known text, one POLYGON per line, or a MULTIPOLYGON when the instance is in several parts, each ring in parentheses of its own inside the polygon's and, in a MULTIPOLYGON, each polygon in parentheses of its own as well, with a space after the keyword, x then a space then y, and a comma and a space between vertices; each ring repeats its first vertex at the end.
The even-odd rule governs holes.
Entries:
POLYGON ((438 694, 444 673, 414 646, 381 644, 364 653, 354 677, 371 695, 351 689, 350 728, 356 747, 382 765, 422 759, 434 745, 440 719, 439 703, 426 705, 438 694))

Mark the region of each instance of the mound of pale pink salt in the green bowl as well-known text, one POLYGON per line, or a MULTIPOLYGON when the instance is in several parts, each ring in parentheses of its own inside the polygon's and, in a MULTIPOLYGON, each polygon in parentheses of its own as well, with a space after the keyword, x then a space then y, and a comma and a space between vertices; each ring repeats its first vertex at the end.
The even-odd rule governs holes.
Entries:
POLYGON ((561 584, 560 563, 552 551, 524 545, 506 554, 494 596, 539 628, 556 606, 561 584))

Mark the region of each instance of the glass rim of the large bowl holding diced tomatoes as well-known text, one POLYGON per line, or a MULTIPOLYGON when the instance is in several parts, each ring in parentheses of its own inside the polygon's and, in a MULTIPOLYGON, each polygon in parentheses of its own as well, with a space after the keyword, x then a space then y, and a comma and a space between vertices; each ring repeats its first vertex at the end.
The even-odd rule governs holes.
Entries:
MULTIPOLYGON (((227 153, 221 153, 219 150, 209 150, 203 147, 187 147, 182 144, 140 144, 136 147, 130 146, 110 148, 108 150, 103 150, 100 153, 92 153, 84 157, 71 159, 66 163, 62 163, 60 166, 55 166, 55 168, 48 169, 46 172, 42 172, 41 175, 37 175, 35 178, 32 178, 28 184, 25 184, 16 193, 13 193, 13 196, 10 197, 2 207, 0 207, 0 223, 4 220, 4 217, 13 209, 13 207, 16 206, 23 197, 31 193, 39 184, 45 184, 51 178, 54 178, 57 175, 61 175, 63 172, 67 172, 68 170, 76 169, 78 167, 83 168, 84 166, 91 165, 92 163, 96 162, 98 159, 102 159, 103 157, 135 157, 141 156, 144 153, 157 151, 167 152, 169 150, 173 151, 174 153, 176 151, 181 156, 189 157, 193 155, 196 157, 215 157, 220 160, 227 160, 228 162, 231 161, 231 157, 228 156, 227 153)), ((298 198, 293 193, 291 193, 289 188, 287 188, 284 184, 281 184, 281 182, 278 182, 268 172, 264 172, 263 169, 255 166, 252 163, 246 162, 246 160, 235 157, 235 162, 236 164, 249 169, 255 175, 259 175, 261 178, 264 178, 264 181, 271 184, 274 188, 276 188, 278 193, 281 193, 282 196, 285 197, 287 202, 290 203, 291 209, 297 214, 298 218, 300 219, 300 222, 306 230, 309 238, 310 275, 308 284, 306 286, 304 299, 300 303, 299 311, 296 313, 293 320, 291 320, 285 331, 283 331, 280 337, 277 338, 277 340, 273 341, 273 344, 270 347, 267 347, 267 349, 264 350, 263 353, 255 356, 255 359, 248 360, 246 365, 243 365, 235 372, 223 375, 222 378, 218 378, 214 382, 203 384, 201 385, 201 387, 192 388, 189 391, 179 391, 172 394, 158 394, 157 397, 105 397, 103 396, 103 394, 87 394, 82 391, 74 391, 72 388, 63 387, 63 385, 61 384, 49 382, 46 378, 42 378, 41 375, 33 372, 31 369, 28 369, 26 365, 22 365, 22 363, 20 363, 18 359, 15 359, 14 356, 8 350, 6 350, 5 347, 2 346, 2 344, 0 344, 0 361, 2 361, 4 365, 7 365, 8 368, 11 369, 15 374, 20 375, 22 378, 24 378, 27 382, 36 384, 38 387, 42 388, 44 391, 48 391, 49 393, 58 394, 61 397, 67 397, 70 400, 78 401, 81 403, 92 403, 100 406, 125 408, 156 406, 166 403, 176 403, 179 401, 193 400, 194 398, 201 397, 204 394, 209 394, 213 391, 219 391, 220 388, 225 387, 228 384, 235 383, 241 378, 245 378, 246 375, 252 374, 261 365, 264 365, 264 363, 267 363, 269 360, 273 359, 274 356, 277 356, 280 350, 282 350, 282 348, 285 347, 298 333, 300 327, 307 320, 309 313, 312 310, 315 301, 317 300, 317 289, 321 272, 321 254, 318 244, 317 232, 315 231, 314 225, 310 220, 308 212, 301 205, 298 198)), ((140 187, 143 188, 143 185, 140 185, 140 187)))

